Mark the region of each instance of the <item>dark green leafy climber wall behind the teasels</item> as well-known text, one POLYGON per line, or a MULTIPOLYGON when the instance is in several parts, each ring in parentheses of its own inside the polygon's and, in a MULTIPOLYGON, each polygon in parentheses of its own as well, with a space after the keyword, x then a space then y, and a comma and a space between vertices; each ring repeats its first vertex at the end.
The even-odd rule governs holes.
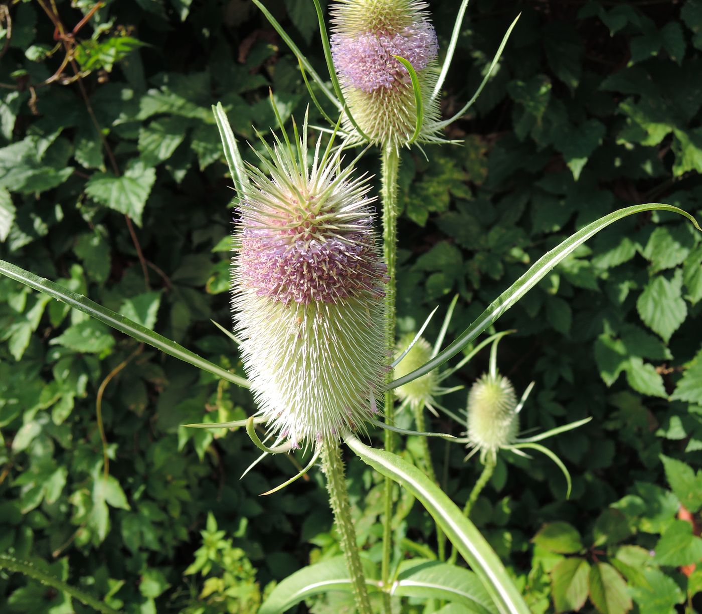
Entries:
MULTIPOLYGON (((240 370, 210 321, 230 325, 233 213, 210 105, 242 139, 273 124, 269 87, 284 117, 301 117, 296 58, 245 0, 104 4, 74 35, 89 1, 0 5, 0 257, 240 370)), ((444 48, 454 4, 431 3, 444 48)), ((312 4, 267 6, 322 72, 312 4)), ((403 154, 401 332, 456 293, 451 329, 463 329, 609 211, 702 208, 702 1, 472 0, 446 116, 520 11, 496 76, 451 127, 463 144, 403 154)), ((518 391, 536 381, 524 429, 595 418, 548 441, 573 475, 570 500, 548 459, 502 454, 473 511, 534 612, 702 609, 690 566, 702 559, 701 239, 670 214, 627 218, 498 322, 517 329, 501 370, 518 391)), ((460 411, 465 392, 448 403, 460 411)), ((0 553, 128 613, 256 611, 271 582, 339 547, 319 471, 261 498, 291 459, 239 481, 258 457, 249 438, 179 426, 251 412, 245 391, 0 279, 0 553)), ((418 442, 402 441, 421 466, 418 442)), ((462 504, 476 459, 430 448, 462 504)), ((359 539, 379 559, 380 478, 353 459, 348 473, 359 539)), ((398 497, 396 562, 433 556, 433 523, 398 497)), ((308 606, 350 607, 335 599, 308 606)), ((0 609, 87 611, 17 574, 0 574, 0 609)))

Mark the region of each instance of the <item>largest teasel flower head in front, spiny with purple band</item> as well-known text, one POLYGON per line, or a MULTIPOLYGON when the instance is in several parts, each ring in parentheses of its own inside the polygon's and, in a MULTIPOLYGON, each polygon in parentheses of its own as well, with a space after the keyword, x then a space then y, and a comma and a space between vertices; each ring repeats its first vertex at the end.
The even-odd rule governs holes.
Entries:
POLYGON ((234 320, 259 413, 296 447, 362 427, 385 371, 384 285, 369 185, 307 126, 276 138, 239 196, 234 320))

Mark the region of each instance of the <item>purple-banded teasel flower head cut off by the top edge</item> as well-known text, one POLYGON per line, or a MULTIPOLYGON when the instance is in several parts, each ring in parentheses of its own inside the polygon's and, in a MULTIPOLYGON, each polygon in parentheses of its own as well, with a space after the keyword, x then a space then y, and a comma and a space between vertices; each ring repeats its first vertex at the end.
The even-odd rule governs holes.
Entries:
MULTIPOLYGON (((408 145, 418 108, 409 61, 423 100, 419 143, 438 141, 439 107, 432 90, 439 76, 438 42, 427 4, 418 0, 338 0, 331 54, 348 111, 371 143, 408 145)), ((345 124, 352 132, 350 121, 345 124)))

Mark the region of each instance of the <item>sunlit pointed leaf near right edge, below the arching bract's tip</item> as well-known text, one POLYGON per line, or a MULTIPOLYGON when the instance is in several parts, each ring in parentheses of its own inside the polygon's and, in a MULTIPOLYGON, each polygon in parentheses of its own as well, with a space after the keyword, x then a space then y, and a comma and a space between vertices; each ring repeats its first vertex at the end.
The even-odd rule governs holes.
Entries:
POLYGON ((636 308, 644 324, 668 343, 687 316, 682 299, 682 271, 677 269, 672 280, 658 275, 649 281, 636 308))

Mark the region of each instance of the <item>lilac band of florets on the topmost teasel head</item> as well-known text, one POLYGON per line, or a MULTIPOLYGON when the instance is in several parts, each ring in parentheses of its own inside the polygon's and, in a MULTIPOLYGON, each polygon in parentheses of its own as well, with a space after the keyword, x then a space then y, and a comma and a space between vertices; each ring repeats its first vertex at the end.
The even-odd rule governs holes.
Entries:
POLYGON ((437 35, 428 20, 419 20, 395 34, 367 32, 331 37, 331 53, 340 78, 345 85, 365 92, 410 82, 406 68, 393 55, 405 58, 419 72, 436 58, 438 51, 437 35))

